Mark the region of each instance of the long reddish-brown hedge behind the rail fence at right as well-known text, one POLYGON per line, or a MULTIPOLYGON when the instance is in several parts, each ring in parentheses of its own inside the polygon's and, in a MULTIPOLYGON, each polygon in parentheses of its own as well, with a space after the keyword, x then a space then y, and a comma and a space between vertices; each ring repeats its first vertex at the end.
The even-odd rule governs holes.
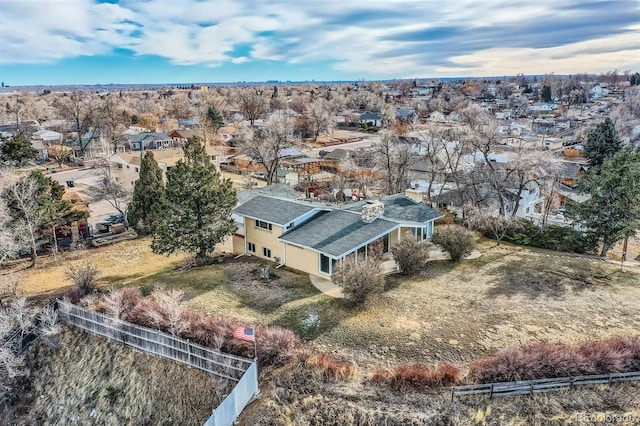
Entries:
POLYGON ((480 383, 508 382, 640 370, 640 337, 618 337, 579 346, 536 343, 506 348, 471 364, 480 383))

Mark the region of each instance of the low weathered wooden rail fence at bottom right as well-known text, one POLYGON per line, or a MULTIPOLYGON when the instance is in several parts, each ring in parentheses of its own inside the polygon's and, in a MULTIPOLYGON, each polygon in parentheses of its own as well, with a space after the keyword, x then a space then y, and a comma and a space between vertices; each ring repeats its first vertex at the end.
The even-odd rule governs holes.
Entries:
POLYGON ((454 400, 457 396, 462 395, 479 394, 489 394, 490 398, 494 396, 533 395, 535 393, 568 390, 580 385, 612 384, 637 380, 640 380, 640 371, 455 386, 451 389, 451 399, 454 400))

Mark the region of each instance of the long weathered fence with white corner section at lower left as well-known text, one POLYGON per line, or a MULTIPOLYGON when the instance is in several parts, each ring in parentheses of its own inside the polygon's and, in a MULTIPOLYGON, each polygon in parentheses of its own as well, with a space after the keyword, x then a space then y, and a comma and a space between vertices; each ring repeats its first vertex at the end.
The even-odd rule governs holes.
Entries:
POLYGON ((259 393, 255 360, 214 351, 158 330, 58 301, 60 318, 90 333, 106 337, 162 358, 190 365, 236 382, 234 389, 213 411, 206 426, 230 426, 259 393))

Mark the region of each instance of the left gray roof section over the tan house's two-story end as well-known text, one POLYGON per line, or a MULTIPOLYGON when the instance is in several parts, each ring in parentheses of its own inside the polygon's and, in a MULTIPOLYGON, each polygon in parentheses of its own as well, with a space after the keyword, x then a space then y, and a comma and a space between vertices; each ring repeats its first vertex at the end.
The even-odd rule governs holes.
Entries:
POLYGON ((309 203, 303 204, 296 201, 258 195, 236 207, 234 213, 275 223, 276 225, 286 225, 316 207, 318 206, 309 203))

